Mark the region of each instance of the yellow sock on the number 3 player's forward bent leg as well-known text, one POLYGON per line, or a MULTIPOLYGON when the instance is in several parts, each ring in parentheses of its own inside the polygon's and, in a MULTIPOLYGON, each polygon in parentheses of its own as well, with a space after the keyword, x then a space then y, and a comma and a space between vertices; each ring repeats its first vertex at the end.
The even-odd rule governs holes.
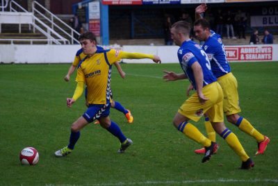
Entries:
POLYGON ((202 146, 211 146, 211 140, 208 140, 193 124, 183 122, 178 128, 181 133, 185 134, 190 139, 202 144, 202 146))

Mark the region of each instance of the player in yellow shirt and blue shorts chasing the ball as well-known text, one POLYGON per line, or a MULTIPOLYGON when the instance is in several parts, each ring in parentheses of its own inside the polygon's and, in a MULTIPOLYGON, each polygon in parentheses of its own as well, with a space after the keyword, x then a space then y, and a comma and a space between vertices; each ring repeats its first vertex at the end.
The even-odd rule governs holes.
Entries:
POLYGON ((83 93, 84 84, 87 85, 88 89, 87 101, 89 106, 84 114, 72 124, 70 143, 63 149, 56 151, 55 155, 56 157, 64 157, 71 153, 76 142, 79 140, 80 130, 95 119, 99 120, 101 127, 120 140, 121 146, 118 153, 124 153, 133 142, 125 137, 120 127, 111 121, 109 117, 111 108, 111 67, 121 59, 149 58, 156 63, 160 63, 161 59, 158 56, 145 53, 129 53, 116 51, 115 49, 97 49, 95 35, 91 32, 81 34, 79 41, 83 53, 87 56, 79 62, 76 90, 72 98, 67 98, 67 106, 72 107, 72 104, 79 99, 83 93))

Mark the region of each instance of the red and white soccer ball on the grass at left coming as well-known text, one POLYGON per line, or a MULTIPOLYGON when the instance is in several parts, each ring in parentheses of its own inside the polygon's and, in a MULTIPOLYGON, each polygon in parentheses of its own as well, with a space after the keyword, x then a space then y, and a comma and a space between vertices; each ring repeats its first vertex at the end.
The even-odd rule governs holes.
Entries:
POLYGON ((19 160, 22 164, 35 165, 39 161, 39 153, 33 147, 26 147, 20 152, 19 160))

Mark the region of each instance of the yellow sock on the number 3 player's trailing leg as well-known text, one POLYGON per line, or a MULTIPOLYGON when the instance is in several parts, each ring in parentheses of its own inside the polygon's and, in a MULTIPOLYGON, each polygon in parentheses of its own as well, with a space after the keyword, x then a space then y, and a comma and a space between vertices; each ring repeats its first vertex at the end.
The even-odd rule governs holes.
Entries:
POLYGON ((245 162, 249 159, 249 156, 243 149, 243 146, 240 144, 238 137, 234 133, 231 132, 228 128, 226 128, 221 136, 226 140, 227 144, 234 150, 234 152, 240 156, 240 159, 245 162))

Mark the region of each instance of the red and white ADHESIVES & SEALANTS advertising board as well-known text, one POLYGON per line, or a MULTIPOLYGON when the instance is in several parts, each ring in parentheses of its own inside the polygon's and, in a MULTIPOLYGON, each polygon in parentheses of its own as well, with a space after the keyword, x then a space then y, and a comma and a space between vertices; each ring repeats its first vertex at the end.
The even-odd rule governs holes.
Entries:
POLYGON ((229 61, 269 61, 273 56, 272 46, 225 47, 225 51, 229 61))

